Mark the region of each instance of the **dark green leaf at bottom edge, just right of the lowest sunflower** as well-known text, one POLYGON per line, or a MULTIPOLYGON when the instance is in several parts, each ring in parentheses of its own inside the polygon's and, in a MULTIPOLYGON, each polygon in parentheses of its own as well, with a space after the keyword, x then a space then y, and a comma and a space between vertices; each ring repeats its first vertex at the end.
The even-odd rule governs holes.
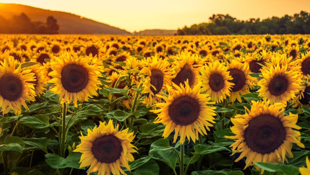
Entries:
POLYGON ((145 163, 142 167, 135 170, 134 172, 129 172, 128 175, 158 175, 159 166, 154 160, 150 160, 145 163))

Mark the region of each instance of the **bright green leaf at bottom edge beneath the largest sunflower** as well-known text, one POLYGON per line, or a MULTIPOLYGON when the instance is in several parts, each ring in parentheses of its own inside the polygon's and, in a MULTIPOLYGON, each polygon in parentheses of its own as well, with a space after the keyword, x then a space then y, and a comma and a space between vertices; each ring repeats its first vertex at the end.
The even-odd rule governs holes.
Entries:
POLYGON ((299 170, 297 167, 292 165, 285 165, 285 164, 273 164, 273 163, 266 163, 266 162, 255 162, 254 163, 259 166, 259 168, 263 168, 266 171, 270 172, 281 172, 284 175, 298 175, 299 170))

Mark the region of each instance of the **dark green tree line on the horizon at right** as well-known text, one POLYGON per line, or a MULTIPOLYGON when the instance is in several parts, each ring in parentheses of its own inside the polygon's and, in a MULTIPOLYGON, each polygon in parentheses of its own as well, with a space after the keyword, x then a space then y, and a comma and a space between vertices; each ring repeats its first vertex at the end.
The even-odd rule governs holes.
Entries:
POLYGON ((310 13, 301 11, 293 16, 238 20, 229 14, 213 14, 209 23, 178 28, 178 35, 243 35, 243 34, 310 34, 310 13))

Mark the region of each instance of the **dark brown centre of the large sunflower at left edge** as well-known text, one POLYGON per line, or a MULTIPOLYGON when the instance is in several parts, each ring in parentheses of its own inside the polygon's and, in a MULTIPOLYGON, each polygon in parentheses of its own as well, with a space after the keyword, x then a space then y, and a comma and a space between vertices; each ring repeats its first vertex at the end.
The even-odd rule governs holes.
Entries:
POLYGON ((12 73, 5 73, 0 79, 0 95, 8 101, 16 101, 23 93, 20 78, 12 73))

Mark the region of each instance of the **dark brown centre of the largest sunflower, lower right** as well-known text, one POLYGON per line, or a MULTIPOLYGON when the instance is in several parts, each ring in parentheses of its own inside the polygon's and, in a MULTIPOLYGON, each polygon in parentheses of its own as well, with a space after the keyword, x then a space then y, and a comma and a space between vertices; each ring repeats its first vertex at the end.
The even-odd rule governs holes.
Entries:
POLYGON ((249 121, 244 131, 244 142, 256 153, 269 154, 277 150, 286 138, 285 127, 279 118, 259 115, 249 121))

